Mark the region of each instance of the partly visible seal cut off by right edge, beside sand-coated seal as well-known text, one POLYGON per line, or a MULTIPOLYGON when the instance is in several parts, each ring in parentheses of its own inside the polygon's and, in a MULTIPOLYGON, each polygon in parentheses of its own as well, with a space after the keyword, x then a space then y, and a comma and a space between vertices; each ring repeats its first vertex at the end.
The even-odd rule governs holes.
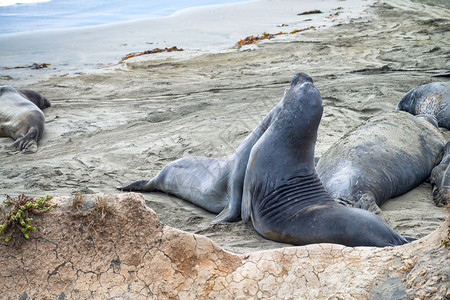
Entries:
POLYGON ((430 182, 433 189, 433 200, 436 206, 450 203, 450 142, 443 151, 443 158, 439 165, 431 171, 430 182))

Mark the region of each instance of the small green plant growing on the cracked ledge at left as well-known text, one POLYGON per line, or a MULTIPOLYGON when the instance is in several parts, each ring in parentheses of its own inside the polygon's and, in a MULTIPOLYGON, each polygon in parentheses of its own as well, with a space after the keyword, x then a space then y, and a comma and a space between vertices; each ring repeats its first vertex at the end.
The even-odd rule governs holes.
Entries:
POLYGON ((0 205, 0 236, 6 235, 5 241, 9 242, 14 233, 20 232, 25 239, 29 239, 30 231, 36 230, 32 225, 32 216, 52 210, 54 204, 47 203, 51 198, 47 195, 33 199, 22 194, 14 200, 7 196, 0 205))

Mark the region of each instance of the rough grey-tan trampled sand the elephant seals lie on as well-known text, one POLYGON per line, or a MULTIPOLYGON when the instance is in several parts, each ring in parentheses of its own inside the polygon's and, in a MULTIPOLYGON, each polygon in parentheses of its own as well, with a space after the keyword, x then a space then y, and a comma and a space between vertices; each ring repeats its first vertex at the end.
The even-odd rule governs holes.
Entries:
MULTIPOLYGON (((349 24, 276 38, 240 51, 142 58, 116 72, 56 77, 28 86, 52 101, 32 155, 0 152, 0 197, 25 193, 116 192, 185 156, 226 157, 279 101, 290 78, 309 73, 324 115, 316 155, 373 115, 391 111, 410 88, 449 69, 448 2, 378 2, 349 24)), ((440 79, 448 80, 448 79, 440 79)), ((10 139, 0 139, 8 145, 10 139)), ((162 222, 246 253, 284 244, 250 225, 210 225, 213 214, 176 197, 146 193, 162 222)), ((429 183, 389 200, 382 217, 423 237, 448 215, 429 183)), ((143 229, 145 230, 145 228, 143 229)))

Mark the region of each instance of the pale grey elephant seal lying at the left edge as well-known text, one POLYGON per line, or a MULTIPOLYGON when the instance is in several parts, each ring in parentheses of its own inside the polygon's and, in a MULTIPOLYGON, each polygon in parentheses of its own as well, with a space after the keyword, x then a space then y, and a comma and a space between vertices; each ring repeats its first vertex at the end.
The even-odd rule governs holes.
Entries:
POLYGON ((44 113, 32 100, 11 86, 0 87, 0 136, 15 140, 9 148, 36 152, 44 123, 44 113))

